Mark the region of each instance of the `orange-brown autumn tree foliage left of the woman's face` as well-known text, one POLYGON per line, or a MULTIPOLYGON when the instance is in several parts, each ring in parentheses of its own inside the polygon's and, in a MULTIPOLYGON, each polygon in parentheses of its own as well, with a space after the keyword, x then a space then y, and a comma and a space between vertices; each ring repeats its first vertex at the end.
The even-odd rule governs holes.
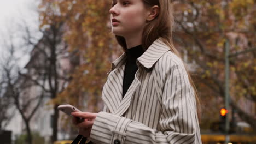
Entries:
POLYGON ((98 111, 101 89, 107 71, 120 47, 110 34, 110 1, 42 1, 40 8, 42 27, 55 22, 65 22, 63 39, 79 63, 72 81, 55 101, 69 101, 78 107, 87 106, 98 111), (88 97, 85 97, 87 95, 88 97))

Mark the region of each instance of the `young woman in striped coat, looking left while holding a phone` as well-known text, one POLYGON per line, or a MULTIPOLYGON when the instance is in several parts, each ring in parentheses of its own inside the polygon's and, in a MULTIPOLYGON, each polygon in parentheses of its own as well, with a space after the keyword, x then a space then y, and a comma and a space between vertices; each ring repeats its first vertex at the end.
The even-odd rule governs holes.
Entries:
POLYGON ((124 53, 103 87, 104 110, 74 112, 93 143, 201 143, 199 103, 172 44, 170 0, 113 0, 112 32, 124 53))

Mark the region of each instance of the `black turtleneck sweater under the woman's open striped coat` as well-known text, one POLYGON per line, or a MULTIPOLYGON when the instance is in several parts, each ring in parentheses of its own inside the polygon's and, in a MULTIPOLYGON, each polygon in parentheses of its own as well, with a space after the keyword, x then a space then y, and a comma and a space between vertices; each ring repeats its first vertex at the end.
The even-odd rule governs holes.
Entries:
POLYGON ((135 73, 138 70, 138 66, 136 64, 137 58, 139 58, 144 53, 144 50, 141 45, 138 45, 127 49, 125 53, 127 59, 124 71, 123 98, 128 88, 131 86, 131 83, 135 77, 135 73))

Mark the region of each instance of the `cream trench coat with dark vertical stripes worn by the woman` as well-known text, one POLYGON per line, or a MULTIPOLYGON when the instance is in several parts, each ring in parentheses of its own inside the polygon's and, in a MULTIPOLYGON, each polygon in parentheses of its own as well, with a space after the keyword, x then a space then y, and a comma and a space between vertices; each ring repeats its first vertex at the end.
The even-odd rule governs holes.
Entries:
POLYGON ((182 60, 160 39, 137 59, 124 98, 126 55, 112 63, 102 91, 104 110, 91 129, 93 143, 201 143, 196 100, 182 60))

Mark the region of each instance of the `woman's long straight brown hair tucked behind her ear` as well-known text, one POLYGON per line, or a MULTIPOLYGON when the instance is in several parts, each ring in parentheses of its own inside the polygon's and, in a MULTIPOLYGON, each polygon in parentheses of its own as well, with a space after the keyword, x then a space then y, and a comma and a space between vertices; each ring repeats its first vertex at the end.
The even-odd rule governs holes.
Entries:
MULTIPOLYGON (((158 5, 159 14, 155 17, 153 21, 149 21, 146 23, 146 26, 143 29, 142 33, 142 47, 144 50, 147 50, 148 47, 158 38, 160 38, 166 45, 168 45, 171 51, 181 58, 178 50, 174 47, 172 41, 172 29, 174 25, 174 17, 172 15, 171 1, 170 0, 142 0, 146 7, 153 7, 154 5, 158 5)), ((124 37, 115 35, 118 43, 123 47, 124 51, 126 51, 126 42, 124 37)), ((185 64, 184 64, 185 65, 185 64)), ((187 70, 187 68, 186 68, 187 70)), ((188 73, 188 70, 187 70, 188 73)), ((191 86, 193 86, 195 91, 196 98, 196 109, 197 109, 197 117, 199 121, 201 119, 201 105, 198 93, 196 91, 196 87, 194 85, 193 80, 191 79, 190 74, 188 73, 189 81, 191 86)))

